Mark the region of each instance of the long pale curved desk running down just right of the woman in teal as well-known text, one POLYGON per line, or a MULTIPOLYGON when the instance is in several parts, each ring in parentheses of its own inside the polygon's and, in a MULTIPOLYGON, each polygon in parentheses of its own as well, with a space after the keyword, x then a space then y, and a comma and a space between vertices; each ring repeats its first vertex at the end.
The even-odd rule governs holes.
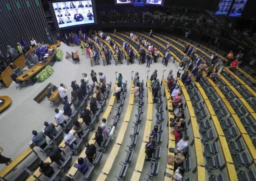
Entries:
MULTIPOLYGON (((126 129, 128 127, 128 123, 129 123, 129 120, 130 120, 130 116, 131 116, 131 113, 132 113, 132 109, 133 109, 133 103, 134 103, 134 84, 133 84, 133 81, 131 81, 131 90, 130 90, 130 96, 129 96, 129 104, 128 104, 128 107, 127 107, 127 110, 126 110, 126 114, 125 114, 125 117, 124 117, 124 120, 122 122, 122 125, 121 125, 121 129, 120 129, 120 132, 119 134, 117 135, 117 139, 115 141, 115 145, 114 147, 112 148, 110 154, 108 155, 108 159, 107 161, 105 162, 104 164, 104 167, 102 168, 102 171, 101 171, 101 174, 98 176, 97 180, 99 181, 103 181, 103 180, 106 180, 107 177, 108 177, 108 174, 111 170, 111 165, 113 165, 114 161, 115 161, 115 158, 118 154, 118 151, 121 147, 121 144, 122 144, 122 141, 123 141, 123 138, 125 136, 125 133, 126 133, 126 129)), ((117 117, 119 117, 120 115, 116 115, 115 119, 117 119, 117 117)), ((116 125, 116 123, 115 123, 116 125)), ((130 153, 128 151, 128 153, 130 153)), ((128 156, 129 159, 132 158, 132 155, 131 156, 128 156)), ((129 162, 122 162, 122 166, 124 168, 121 169, 121 174, 119 175, 119 177, 121 179, 123 179, 127 173, 127 169, 129 167, 129 162)))

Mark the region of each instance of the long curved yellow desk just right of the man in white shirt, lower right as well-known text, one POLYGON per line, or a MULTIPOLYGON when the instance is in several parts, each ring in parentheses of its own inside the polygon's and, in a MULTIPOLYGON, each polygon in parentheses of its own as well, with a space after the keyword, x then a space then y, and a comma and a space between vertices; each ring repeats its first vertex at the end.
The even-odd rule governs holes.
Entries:
MULTIPOLYGON (((192 145, 195 143, 195 162, 196 162, 196 166, 195 168, 193 169, 193 173, 195 173, 197 171, 197 180, 205 180, 206 179, 206 175, 205 175, 205 171, 206 171, 206 168, 205 168, 205 162, 204 162, 204 157, 203 157, 203 149, 202 149, 202 143, 201 143, 201 136, 200 136, 200 133, 199 133, 199 128, 200 126, 197 124, 197 121, 200 122, 204 120, 205 117, 199 117, 197 115, 195 115, 195 110, 193 108, 193 99, 192 101, 190 100, 190 97, 188 95, 188 92, 184 86, 184 84, 182 83, 181 79, 177 79, 177 82, 179 83, 179 85, 181 86, 182 88, 182 93, 183 93, 183 96, 185 97, 185 101, 186 101, 186 105, 188 107, 188 111, 189 111, 189 116, 190 116, 190 119, 189 119, 189 123, 188 125, 191 123, 191 126, 192 126, 192 132, 193 132, 193 136, 194 136, 194 139, 192 141, 192 145)), ((186 134, 186 133, 185 133, 186 134)), ((204 140, 204 132, 201 132, 201 135, 202 135, 202 138, 204 140)), ((212 141, 211 140, 208 140, 209 142, 212 141)), ((208 143, 208 141, 205 140, 205 142, 208 143)), ((203 143, 205 143, 203 141, 203 143)), ((211 159, 213 159, 213 162, 214 162, 214 159, 215 157, 213 155, 211 155, 212 157, 210 157, 211 159)), ((206 159, 208 160, 208 159, 206 159)), ((183 167, 185 168, 185 170, 188 172, 191 168, 191 165, 190 164, 187 164, 187 162, 190 162, 190 158, 187 158, 187 160, 185 162, 183 162, 183 167), (188 167, 189 165, 189 167, 188 167)), ((209 170, 213 170, 213 169, 218 169, 220 168, 222 165, 214 165, 214 164, 210 164, 208 163, 207 164, 208 166, 208 169, 209 170), (216 166, 216 168, 215 168, 216 166)))

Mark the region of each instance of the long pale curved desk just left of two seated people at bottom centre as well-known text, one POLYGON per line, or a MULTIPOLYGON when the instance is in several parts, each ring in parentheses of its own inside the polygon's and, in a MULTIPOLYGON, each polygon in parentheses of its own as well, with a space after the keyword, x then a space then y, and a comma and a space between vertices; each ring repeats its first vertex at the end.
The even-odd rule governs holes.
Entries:
MULTIPOLYGON (((152 112, 153 112, 153 95, 152 95, 151 81, 149 79, 147 79, 147 87, 148 87, 147 119, 146 119, 141 149, 140 149, 139 156, 138 156, 138 159, 137 159, 137 162, 135 165, 135 170, 134 170, 132 178, 131 178, 132 181, 140 179, 141 172, 142 172, 143 165, 144 165, 145 158, 146 158, 145 146, 146 146, 147 142, 149 141, 148 135, 150 134, 151 126, 152 126, 151 124, 152 124, 152 112)), ((142 99, 143 99, 143 97, 142 97, 142 99)), ((139 123, 141 123, 141 120, 139 123)))

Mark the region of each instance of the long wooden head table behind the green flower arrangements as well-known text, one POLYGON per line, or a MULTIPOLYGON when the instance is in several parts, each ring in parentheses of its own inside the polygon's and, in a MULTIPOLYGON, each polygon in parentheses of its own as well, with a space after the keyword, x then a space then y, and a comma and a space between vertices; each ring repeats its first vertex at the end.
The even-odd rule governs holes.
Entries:
POLYGON ((19 81, 26 81, 29 78, 33 77, 37 72, 39 72, 40 70, 42 70, 45 66, 47 66, 49 64, 49 62, 52 60, 52 58, 54 57, 54 54, 49 55, 49 57, 47 58, 47 61, 45 63, 38 63, 37 65, 34 65, 31 69, 27 70, 26 72, 24 72, 23 74, 21 74, 19 77, 16 78, 16 80, 19 81), (25 74, 28 74, 26 77, 23 77, 25 74))

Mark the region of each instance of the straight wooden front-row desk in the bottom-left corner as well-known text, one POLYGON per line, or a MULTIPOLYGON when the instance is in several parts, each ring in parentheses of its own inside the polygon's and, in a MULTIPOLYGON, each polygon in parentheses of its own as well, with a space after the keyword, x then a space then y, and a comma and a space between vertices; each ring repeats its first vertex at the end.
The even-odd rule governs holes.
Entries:
POLYGON ((14 168, 16 168, 20 162, 22 162, 28 155, 33 152, 32 149, 28 148, 23 153, 21 153, 13 162, 0 171, 0 178, 5 178, 14 168))

